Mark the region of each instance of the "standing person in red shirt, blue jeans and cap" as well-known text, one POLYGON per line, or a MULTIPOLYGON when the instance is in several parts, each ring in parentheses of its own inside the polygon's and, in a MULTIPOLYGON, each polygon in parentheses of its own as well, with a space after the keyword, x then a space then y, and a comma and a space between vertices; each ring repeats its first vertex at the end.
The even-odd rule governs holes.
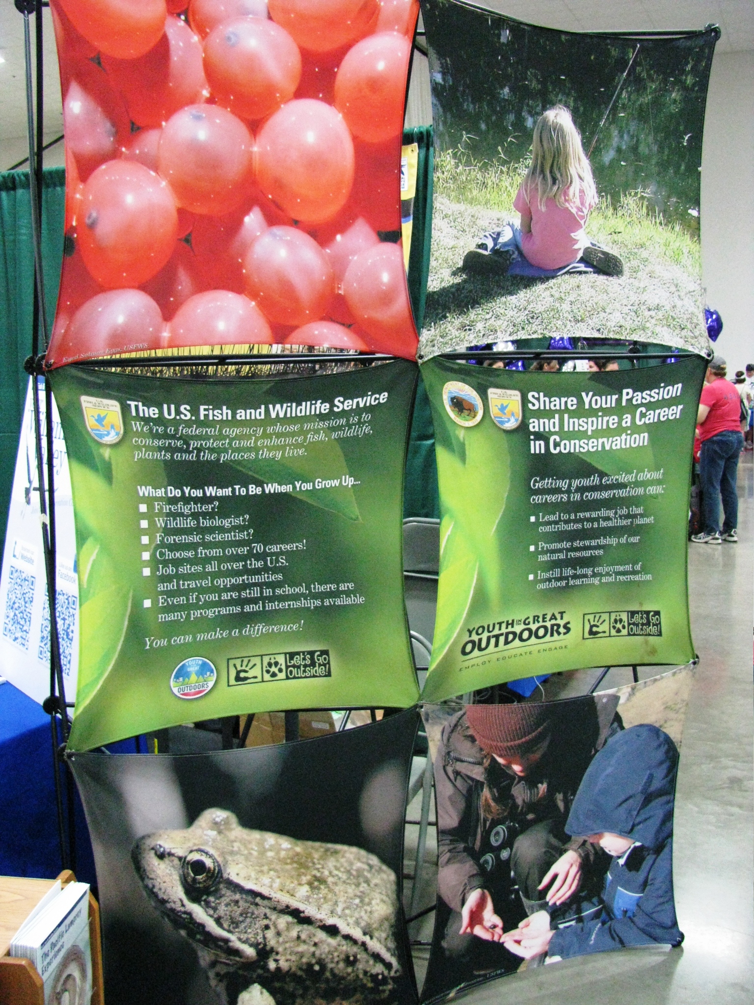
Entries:
POLYGON ((697 415, 697 431, 702 441, 699 476, 703 530, 693 535, 692 541, 699 545, 719 545, 723 541, 736 544, 738 541, 736 472, 744 438, 741 434, 741 397, 735 385, 725 379, 726 370, 722 356, 710 360, 697 415), (722 534, 720 496, 725 513, 722 534))

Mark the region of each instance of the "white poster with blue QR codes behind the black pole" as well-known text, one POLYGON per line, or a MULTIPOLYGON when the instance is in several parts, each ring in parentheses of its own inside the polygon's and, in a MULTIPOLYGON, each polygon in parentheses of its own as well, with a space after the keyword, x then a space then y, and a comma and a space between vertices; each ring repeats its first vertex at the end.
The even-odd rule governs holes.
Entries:
MULTIPOLYGON (((13 476, 0 576, 0 674, 40 705, 50 692, 50 619, 39 520, 32 384, 13 476)), ((46 457, 44 382, 39 379, 42 454, 46 457)), ((68 457, 53 403, 52 428, 57 537, 57 627, 65 698, 75 697, 78 666, 78 581, 68 457)), ((46 483, 46 477, 45 477, 46 483)))

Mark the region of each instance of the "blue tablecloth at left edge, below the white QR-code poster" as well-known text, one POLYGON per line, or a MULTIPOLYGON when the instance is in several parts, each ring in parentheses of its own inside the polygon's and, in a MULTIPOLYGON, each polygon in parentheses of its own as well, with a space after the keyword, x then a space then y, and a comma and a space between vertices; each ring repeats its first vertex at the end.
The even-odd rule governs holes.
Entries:
MULTIPOLYGON (((75 796, 76 878, 96 883, 83 810, 75 796)), ((0 873, 53 878, 60 871, 49 716, 0 684, 0 873)))

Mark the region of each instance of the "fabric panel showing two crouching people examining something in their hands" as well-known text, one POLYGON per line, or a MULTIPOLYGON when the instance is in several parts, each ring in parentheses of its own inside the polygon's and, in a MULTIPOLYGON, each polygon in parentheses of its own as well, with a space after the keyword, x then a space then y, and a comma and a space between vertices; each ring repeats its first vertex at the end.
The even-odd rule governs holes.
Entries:
POLYGON ((692 676, 424 707, 438 896, 422 1001, 544 963, 681 944, 673 809, 692 676))

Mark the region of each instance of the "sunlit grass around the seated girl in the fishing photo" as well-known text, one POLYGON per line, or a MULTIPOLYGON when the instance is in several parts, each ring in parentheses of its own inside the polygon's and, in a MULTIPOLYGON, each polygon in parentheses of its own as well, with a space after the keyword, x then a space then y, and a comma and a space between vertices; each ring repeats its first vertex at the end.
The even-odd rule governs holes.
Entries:
POLYGON ((589 236, 620 255, 622 278, 470 276, 463 254, 486 230, 518 222, 513 200, 526 170, 504 155, 475 160, 462 145, 435 158, 432 257, 421 353, 484 342, 570 335, 639 338, 704 349, 697 237, 668 223, 641 192, 601 199, 589 236))

